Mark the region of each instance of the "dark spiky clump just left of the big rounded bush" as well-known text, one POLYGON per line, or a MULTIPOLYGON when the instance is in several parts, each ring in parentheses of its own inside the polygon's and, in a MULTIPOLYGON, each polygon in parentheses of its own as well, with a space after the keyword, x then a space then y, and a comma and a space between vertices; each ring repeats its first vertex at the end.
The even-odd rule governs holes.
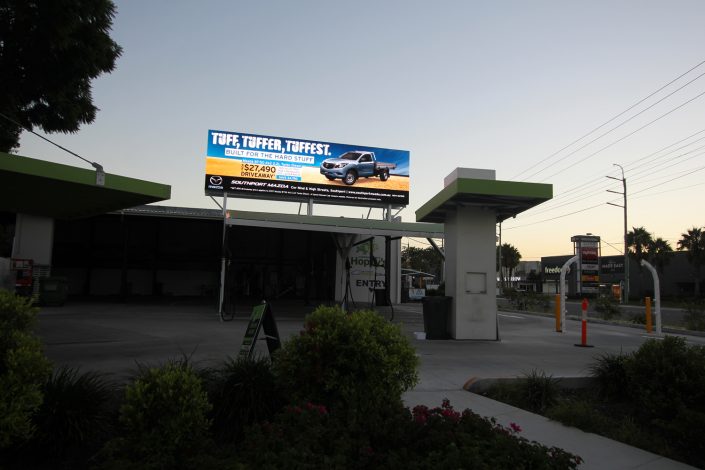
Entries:
POLYGON ((267 358, 229 358, 204 374, 213 405, 213 432, 221 442, 234 442, 255 422, 272 420, 286 404, 267 358))

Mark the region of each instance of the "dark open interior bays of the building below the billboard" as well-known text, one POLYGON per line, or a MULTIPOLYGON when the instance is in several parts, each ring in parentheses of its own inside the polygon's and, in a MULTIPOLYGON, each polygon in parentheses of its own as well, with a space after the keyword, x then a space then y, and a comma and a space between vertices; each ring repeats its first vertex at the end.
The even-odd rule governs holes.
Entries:
MULTIPOLYGON (((231 226, 226 236, 226 302, 332 300, 336 248, 331 234, 231 226)), ((73 297, 217 301, 223 222, 113 213, 57 220, 52 275, 73 297)))

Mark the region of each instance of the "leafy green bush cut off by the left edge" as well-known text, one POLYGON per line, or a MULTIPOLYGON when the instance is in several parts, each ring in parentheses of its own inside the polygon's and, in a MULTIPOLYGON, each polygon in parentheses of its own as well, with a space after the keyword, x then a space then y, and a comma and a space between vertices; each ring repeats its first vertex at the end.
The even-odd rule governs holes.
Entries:
POLYGON ((31 415, 51 371, 32 333, 37 310, 31 302, 0 291, 0 449, 31 435, 31 415))

